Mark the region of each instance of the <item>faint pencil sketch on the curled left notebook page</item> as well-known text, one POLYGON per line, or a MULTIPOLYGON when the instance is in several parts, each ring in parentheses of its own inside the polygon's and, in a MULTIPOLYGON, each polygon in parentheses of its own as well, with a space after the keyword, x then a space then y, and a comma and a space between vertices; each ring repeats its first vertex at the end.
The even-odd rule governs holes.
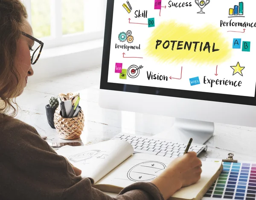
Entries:
POLYGON ((90 158, 105 159, 107 156, 108 155, 104 154, 104 152, 101 150, 90 150, 90 151, 78 153, 75 155, 70 155, 68 156, 68 159, 75 163, 84 161, 84 164, 85 164, 86 160, 90 158))

